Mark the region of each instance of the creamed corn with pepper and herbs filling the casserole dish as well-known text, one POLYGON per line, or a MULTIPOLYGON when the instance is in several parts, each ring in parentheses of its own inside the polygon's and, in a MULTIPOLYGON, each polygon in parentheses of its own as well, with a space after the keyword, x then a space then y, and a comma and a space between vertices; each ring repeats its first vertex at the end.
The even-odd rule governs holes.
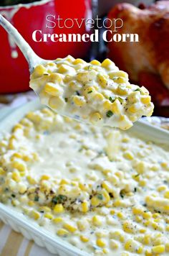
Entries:
POLYGON ((168 255, 168 147, 49 110, 29 113, 20 124, 0 143, 4 204, 89 255, 160 255, 159 250, 168 255), (32 188, 38 191, 30 192, 32 188), (70 197, 73 203, 63 201, 64 211, 58 213, 51 204, 54 195, 70 197), (44 206, 50 211, 42 211, 44 206))

